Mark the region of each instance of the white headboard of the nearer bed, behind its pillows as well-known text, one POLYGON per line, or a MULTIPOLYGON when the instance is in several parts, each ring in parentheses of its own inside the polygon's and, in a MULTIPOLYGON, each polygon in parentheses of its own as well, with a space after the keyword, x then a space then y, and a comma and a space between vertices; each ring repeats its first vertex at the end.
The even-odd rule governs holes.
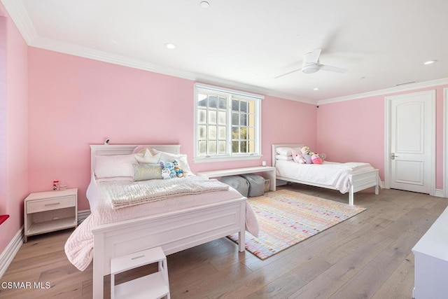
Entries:
POLYGON ((155 148, 158 151, 165 151, 166 153, 181 153, 181 146, 179 144, 157 144, 157 145, 91 145, 90 146, 90 173, 95 167, 95 161, 98 155, 130 155, 137 146, 147 146, 148 148, 155 148))

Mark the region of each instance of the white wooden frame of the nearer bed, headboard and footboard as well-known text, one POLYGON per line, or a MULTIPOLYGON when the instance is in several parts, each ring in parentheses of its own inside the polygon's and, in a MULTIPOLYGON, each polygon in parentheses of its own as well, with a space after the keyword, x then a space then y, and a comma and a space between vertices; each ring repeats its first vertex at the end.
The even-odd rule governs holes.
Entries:
MULTIPOLYGON (((91 173, 98 155, 130 154, 137 145, 91 145, 91 173)), ((158 151, 180 153, 179 145, 148 145, 158 151)), ((179 211, 146 216, 92 229, 93 298, 103 298, 104 276, 111 273, 111 258, 162 246, 165 254, 239 233, 239 251, 244 251, 246 197, 206 204, 179 211)))

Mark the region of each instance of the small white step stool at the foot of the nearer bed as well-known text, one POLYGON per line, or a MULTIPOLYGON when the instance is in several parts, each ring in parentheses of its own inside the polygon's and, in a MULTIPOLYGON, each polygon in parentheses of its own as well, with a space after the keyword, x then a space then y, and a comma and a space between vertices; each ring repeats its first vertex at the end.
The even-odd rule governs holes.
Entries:
POLYGON ((169 299, 167 257, 162 247, 155 247, 111 259, 111 299, 114 298, 162 298, 169 299), (153 274, 115 285, 115 275, 143 265, 159 263, 159 271, 153 274))

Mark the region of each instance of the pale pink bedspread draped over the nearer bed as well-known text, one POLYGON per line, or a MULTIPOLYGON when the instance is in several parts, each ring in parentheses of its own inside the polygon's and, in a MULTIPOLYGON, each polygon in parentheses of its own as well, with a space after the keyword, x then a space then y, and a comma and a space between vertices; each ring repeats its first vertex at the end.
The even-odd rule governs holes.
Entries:
MULTIPOLYGON (((237 190, 230 188, 229 190, 217 190, 211 193, 173 197, 123 209, 112 209, 111 200, 103 200, 104 197, 99 190, 104 187, 102 184, 110 183, 97 183, 92 179, 87 189, 87 199, 90 203, 91 214, 76 228, 65 244, 67 258, 79 270, 85 270, 92 261, 93 234, 91 230, 98 225, 241 198, 241 194, 237 190), (101 188, 98 186, 101 186, 101 188)), ((248 202, 246 202, 246 230, 251 232, 252 235, 258 235, 258 221, 248 202)))

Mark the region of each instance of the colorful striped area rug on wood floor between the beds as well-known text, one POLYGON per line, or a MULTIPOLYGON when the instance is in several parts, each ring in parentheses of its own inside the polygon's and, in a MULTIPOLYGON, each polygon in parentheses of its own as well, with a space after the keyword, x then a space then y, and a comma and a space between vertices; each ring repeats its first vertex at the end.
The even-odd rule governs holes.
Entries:
MULTIPOLYGON (((249 197, 260 225, 258 237, 246 232, 246 250, 264 260, 337 223, 365 211, 320 197, 290 190, 249 197)), ((228 236, 238 243, 238 235, 228 236)))

